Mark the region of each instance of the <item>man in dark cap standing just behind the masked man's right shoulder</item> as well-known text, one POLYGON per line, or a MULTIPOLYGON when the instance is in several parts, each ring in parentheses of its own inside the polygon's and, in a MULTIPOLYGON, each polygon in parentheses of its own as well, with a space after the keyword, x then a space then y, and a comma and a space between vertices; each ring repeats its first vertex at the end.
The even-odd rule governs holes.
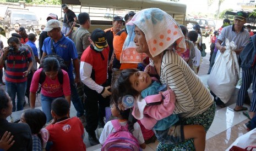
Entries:
POLYGON ((115 16, 112 21, 113 27, 104 30, 106 32, 107 44, 110 47, 110 53, 108 54, 108 84, 111 84, 112 79, 112 62, 113 62, 113 39, 116 33, 121 31, 123 25, 123 18, 121 16, 115 16))

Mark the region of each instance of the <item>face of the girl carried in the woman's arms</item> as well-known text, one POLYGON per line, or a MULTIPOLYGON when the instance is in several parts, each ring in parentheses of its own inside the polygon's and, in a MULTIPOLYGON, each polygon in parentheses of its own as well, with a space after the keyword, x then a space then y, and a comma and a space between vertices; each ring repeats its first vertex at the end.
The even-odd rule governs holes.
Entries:
POLYGON ((148 73, 143 71, 135 72, 129 78, 130 83, 132 83, 132 88, 138 91, 139 93, 144 89, 148 88, 152 83, 151 77, 148 73))

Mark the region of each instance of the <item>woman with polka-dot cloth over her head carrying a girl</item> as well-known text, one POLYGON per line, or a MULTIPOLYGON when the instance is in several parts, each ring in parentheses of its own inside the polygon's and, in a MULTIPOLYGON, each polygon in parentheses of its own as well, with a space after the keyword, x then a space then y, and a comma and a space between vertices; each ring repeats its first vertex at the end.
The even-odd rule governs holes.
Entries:
MULTIPOLYGON (((207 131, 215 114, 214 98, 187 63, 175 51, 186 50, 184 36, 173 18, 157 8, 141 10, 126 24, 128 37, 121 62, 136 62, 145 53, 150 57, 150 72, 175 92, 180 124, 204 126, 207 131), (137 53, 135 53, 135 50, 137 53)), ((193 140, 162 144, 157 150, 195 150, 193 140)))

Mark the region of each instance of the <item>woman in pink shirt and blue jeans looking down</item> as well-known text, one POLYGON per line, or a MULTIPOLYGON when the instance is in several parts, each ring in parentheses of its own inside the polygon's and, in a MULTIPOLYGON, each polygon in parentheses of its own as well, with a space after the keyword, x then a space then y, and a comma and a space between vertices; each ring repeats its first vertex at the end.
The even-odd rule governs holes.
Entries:
MULTIPOLYGON (((42 111, 46 114, 47 122, 52 119, 51 104, 55 98, 65 97, 70 106, 70 84, 68 73, 61 69, 59 62, 54 57, 43 60, 43 68, 38 69, 32 78, 30 86, 30 107, 35 108, 36 91, 39 86, 40 74, 45 74, 45 80, 41 84, 42 111), (61 72, 62 71, 62 72, 61 72), (41 73, 42 72, 42 73, 41 73), (62 80, 59 80, 63 77, 62 80), (62 82, 62 84, 61 84, 62 82)), ((41 75, 42 76, 42 75, 41 75)), ((41 78, 42 79, 42 78, 41 78)))

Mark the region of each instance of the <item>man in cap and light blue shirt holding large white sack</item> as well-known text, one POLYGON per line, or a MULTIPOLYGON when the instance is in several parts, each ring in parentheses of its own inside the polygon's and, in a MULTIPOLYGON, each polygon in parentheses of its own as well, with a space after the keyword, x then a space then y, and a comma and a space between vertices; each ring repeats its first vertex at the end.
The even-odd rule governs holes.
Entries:
MULTIPOLYGON (((235 42, 235 44, 237 45, 237 49, 234 50, 237 56, 241 53, 243 48, 246 47, 250 38, 249 32, 247 30, 244 30, 243 28, 243 25, 246 24, 246 18, 247 14, 244 11, 238 11, 234 17, 234 24, 226 26, 221 30, 221 34, 219 35, 219 37, 217 38, 217 42, 215 43, 215 47, 220 53, 224 53, 226 50, 226 39, 228 39, 230 42, 235 42)), ((213 96, 215 97, 214 94, 213 96)), ((226 106, 226 104, 222 102, 220 98, 217 98, 217 100, 215 99, 215 102, 216 105, 220 106, 221 108, 226 106)))

